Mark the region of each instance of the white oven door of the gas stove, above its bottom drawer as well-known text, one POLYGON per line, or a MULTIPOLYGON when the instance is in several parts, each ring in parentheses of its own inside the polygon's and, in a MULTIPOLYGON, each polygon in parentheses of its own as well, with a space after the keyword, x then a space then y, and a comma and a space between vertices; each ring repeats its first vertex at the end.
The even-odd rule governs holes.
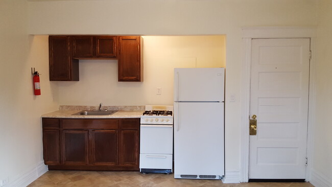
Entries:
POLYGON ((140 125, 141 154, 173 154, 173 125, 140 125))

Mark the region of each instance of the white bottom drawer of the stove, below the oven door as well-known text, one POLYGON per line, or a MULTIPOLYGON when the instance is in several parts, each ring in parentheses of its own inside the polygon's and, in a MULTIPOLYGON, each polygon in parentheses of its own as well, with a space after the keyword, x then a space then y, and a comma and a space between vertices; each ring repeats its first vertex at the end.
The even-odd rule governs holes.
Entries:
POLYGON ((139 154, 141 169, 172 169, 173 154, 139 154))

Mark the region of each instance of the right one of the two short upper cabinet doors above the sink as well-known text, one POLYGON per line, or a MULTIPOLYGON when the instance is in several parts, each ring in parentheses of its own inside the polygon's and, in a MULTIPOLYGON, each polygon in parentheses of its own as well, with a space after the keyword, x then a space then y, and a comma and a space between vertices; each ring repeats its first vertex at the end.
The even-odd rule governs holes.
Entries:
POLYGON ((96 57, 116 57, 115 36, 96 36, 96 57))

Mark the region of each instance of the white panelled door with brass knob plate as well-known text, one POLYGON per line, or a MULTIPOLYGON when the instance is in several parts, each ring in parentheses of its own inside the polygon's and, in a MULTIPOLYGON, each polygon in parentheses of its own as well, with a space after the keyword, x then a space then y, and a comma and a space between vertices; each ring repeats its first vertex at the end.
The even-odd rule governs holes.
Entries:
POLYGON ((309 38, 252 40, 249 179, 305 178, 309 53, 309 38))

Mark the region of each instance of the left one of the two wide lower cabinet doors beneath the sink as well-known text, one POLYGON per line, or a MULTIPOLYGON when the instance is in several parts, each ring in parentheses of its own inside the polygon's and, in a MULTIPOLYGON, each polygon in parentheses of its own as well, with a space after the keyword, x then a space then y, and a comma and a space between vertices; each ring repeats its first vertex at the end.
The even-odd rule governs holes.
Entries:
POLYGON ((62 131, 62 160, 64 165, 88 165, 88 131, 62 131))

